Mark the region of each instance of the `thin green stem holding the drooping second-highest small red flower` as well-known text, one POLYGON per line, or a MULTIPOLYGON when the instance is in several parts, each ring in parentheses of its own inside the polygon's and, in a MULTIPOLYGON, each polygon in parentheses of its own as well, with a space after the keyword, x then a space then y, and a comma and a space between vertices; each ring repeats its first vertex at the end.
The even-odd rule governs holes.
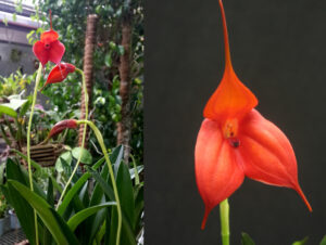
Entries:
MULTIPOLYGON (((85 80, 85 75, 84 75, 84 72, 82 69, 78 69, 76 68, 76 72, 78 72, 80 75, 82 75, 82 80, 83 80, 83 89, 84 89, 84 95, 85 95, 85 119, 87 120, 88 119, 88 93, 87 93, 87 88, 86 88, 86 80, 85 80)), ((87 125, 84 126, 84 131, 83 131, 83 139, 82 139, 82 150, 84 149, 85 146, 85 140, 86 140, 86 131, 87 131, 87 125)), ((83 156, 83 151, 80 151, 80 155, 78 157, 78 160, 76 163, 76 166, 68 179, 68 181, 66 182, 62 193, 61 193, 61 196, 58 201, 58 205, 57 205, 57 210, 62 202, 62 198, 63 196, 65 195, 66 191, 67 191, 67 188, 68 185, 71 184, 72 180, 73 180, 73 177, 74 175, 76 173, 77 169, 78 169, 78 166, 80 164, 80 160, 82 160, 82 156, 83 156)))

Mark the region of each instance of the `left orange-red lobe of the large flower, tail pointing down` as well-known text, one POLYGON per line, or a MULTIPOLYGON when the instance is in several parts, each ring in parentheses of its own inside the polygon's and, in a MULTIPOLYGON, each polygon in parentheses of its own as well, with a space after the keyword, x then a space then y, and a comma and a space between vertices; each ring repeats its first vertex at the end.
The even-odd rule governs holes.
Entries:
POLYGON ((217 204, 230 196, 243 182, 241 157, 237 149, 223 138, 216 121, 204 119, 196 143, 196 180, 205 204, 202 222, 217 204))

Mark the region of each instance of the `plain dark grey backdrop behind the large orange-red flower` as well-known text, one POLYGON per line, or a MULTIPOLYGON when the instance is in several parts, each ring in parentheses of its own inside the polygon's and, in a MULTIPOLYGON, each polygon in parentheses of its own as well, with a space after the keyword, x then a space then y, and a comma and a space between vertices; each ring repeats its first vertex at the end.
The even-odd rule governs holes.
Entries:
MULTIPOLYGON (((249 179, 231 195, 231 244, 287 245, 326 234, 326 1, 225 0, 230 50, 258 109, 290 139, 310 214, 290 189, 249 179)), ((217 0, 146 1, 146 244, 221 244, 218 207, 203 202, 193 149, 224 69, 217 0)))

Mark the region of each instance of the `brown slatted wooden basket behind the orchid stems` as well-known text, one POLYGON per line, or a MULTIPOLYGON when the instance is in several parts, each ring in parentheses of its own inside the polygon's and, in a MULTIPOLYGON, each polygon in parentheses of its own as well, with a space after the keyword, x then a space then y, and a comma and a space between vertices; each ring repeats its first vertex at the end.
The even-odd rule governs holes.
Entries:
MULTIPOLYGON (((42 167, 52 167, 64 151, 63 144, 33 145, 30 146, 30 158, 42 167)), ((23 153, 27 155, 26 147, 23 147, 23 153)))

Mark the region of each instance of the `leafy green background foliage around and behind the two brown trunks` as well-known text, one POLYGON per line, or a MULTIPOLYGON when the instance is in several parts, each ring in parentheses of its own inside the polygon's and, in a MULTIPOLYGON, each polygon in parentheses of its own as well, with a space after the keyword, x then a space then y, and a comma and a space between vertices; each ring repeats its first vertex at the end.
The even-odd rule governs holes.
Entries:
MULTIPOLYGON (((93 93, 91 118, 103 133, 105 145, 116 145, 116 122, 121 120, 121 98, 118 96, 120 56, 124 49, 121 43, 121 23, 125 13, 131 13, 131 94, 130 106, 133 116, 131 149, 136 159, 142 162, 142 74, 143 74, 143 0, 131 1, 78 1, 46 0, 40 3, 42 13, 52 11, 53 29, 60 35, 66 51, 64 62, 83 68, 86 20, 88 14, 99 16, 97 26, 97 43, 93 53, 93 93)), ((47 23, 42 28, 27 35, 30 43, 35 42, 40 33, 49 29, 48 15, 33 16, 47 23)), ((49 67, 48 67, 49 68, 49 67)), ((50 105, 60 117, 77 116, 80 105, 82 79, 77 74, 68 76, 65 85, 52 85, 45 90, 50 105)), ((95 138, 91 137, 95 142, 95 138)), ((92 149, 93 151, 95 149, 92 149)))

